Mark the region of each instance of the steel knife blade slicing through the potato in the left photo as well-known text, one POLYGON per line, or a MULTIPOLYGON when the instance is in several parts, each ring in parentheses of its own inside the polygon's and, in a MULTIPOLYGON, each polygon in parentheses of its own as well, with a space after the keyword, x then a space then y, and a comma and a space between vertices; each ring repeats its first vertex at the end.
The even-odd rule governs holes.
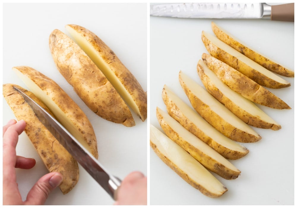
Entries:
POLYGON ((32 108, 40 122, 50 131, 50 133, 60 142, 61 145, 85 168, 85 170, 101 185, 104 190, 116 200, 117 190, 121 185, 121 180, 113 175, 99 163, 96 158, 83 147, 78 140, 72 136, 53 116, 44 108, 37 104, 28 95, 14 86, 28 105, 32 108))

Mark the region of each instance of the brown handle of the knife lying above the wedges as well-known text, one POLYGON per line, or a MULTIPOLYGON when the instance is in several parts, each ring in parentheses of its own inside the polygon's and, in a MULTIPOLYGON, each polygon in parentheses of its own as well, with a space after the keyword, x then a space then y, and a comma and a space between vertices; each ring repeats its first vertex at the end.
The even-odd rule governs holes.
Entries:
POLYGON ((294 22, 294 3, 272 5, 271 20, 294 22))

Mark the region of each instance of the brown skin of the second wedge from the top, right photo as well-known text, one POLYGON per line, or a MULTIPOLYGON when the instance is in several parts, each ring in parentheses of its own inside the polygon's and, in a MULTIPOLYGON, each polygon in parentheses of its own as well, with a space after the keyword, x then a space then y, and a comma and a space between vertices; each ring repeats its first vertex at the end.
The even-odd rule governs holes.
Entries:
POLYGON ((204 36, 203 32, 201 35, 202 41, 207 49, 207 51, 214 56, 215 58, 219 59, 222 62, 225 62, 232 68, 236 69, 237 71, 241 72, 242 74, 246 75, 248 78, 252 79, 253 81, 257 82, 259 85, 266 86, 273 89, 279 89, 284 87, 289 87, 291 84, 283 84, 277 81, 274 81, 262 73, 254 70, 252 67, 248 66, 247 64, 241 62, 236 57, 230 55, 229 53, 223 51, 221 48, 218 48, 212 42, 210 42, 207 37, 204 36))

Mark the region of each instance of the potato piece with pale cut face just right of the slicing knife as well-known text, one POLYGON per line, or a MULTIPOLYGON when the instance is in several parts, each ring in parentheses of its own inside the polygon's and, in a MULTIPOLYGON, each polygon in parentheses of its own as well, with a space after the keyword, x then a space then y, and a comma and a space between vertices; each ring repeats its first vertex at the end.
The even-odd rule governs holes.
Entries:
POLYGON ((91 122, 71 97, 55 81, 31 67, 19 66, 12 70, 45 103, 56 119, 98 158, 97 140, 91 122))

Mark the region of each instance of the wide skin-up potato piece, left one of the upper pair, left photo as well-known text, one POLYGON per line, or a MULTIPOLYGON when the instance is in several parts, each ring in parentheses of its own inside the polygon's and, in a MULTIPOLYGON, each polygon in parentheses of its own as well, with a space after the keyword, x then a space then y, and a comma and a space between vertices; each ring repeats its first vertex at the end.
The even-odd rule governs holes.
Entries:
POLYGON ((124 126, 135 126, 119 93, 73 40, 56 29, 50 34, 49 46, 59 72, 94 113, 124 126))

